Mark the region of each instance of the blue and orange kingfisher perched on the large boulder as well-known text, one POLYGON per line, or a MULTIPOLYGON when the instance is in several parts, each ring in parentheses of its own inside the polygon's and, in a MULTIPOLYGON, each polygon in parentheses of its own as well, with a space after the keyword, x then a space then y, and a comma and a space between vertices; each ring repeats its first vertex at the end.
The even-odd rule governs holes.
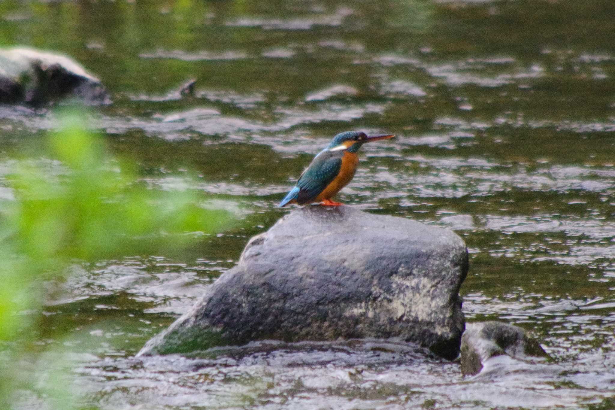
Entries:
POLYGON ((279 207, 288 203, 320 202, 322 205, 339 206, 341 202, 331 200, 357 171, 359 157, 357 151, 365 143, 371 141, 387 140, 395 135, 379 134, 366 135, 360 131, 347 131, 333 137, 327 148, 314 157, 309 167, 299 177, 299 181, 279 207))

